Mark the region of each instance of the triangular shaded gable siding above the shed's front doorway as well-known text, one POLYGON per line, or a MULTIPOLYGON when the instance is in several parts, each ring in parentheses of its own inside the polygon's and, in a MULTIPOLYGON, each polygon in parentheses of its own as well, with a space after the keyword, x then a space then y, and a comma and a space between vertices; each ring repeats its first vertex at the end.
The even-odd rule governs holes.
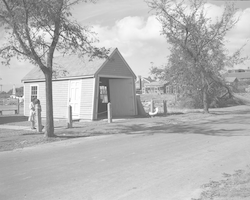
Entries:
POLYGON ((117 52, 114 53, 112 58, 106 63, 106 65, 100 70, 98 75, 105 76, 133 76, 130 69, 128 69, 124 60, 119 56, 117 52))

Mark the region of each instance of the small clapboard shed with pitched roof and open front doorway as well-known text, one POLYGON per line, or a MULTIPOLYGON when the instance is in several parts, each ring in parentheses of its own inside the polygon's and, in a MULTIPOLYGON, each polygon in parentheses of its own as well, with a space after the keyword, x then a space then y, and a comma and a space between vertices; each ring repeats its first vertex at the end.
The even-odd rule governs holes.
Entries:
MULTIPOLYGON (((78 56, 55 57, 53 79, 54 118, 67 117, 72 106, 73 119, 96 120, 107 114, 107 103, 114 117, 137 115, 135 95, 136 76, 119 50, 110 52, 106 59, 78 56)), ((42 117, 46 116, 45 78, 35 67, 24 78, 24 115, 29 115, 32 97, 40 99, 42 117)))

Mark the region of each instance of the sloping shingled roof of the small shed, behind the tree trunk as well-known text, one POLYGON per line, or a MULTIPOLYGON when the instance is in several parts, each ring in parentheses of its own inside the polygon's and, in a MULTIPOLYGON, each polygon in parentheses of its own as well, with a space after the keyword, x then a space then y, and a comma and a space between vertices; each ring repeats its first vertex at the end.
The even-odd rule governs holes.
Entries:
MULTIPOLYGON (((116 51, 119 52, 117 48, 112 49, 109 53, 109 57, 111 57, 116 51)), ((53 62, 53 70, 55 71, 53 78, 60 79, 95 76, 107 60, 108 58, 94 58, 93 60, 89 60, 88 56, 78 57, 77 55, 57 56, 54 58, 53 62)), ((36 66, 22 79, 22 81, 44 79, 43 72, 36 66)))

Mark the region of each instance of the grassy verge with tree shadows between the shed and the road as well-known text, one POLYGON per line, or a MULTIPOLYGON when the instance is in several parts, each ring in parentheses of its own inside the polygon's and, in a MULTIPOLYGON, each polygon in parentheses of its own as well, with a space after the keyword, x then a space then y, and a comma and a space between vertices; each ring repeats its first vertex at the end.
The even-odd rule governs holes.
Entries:
POLYGON ((249 133, 249 106, 237 106, 223 109, 212 109, 204 115, 200 112, 168 115, 155 118, 134 118, 114 120, 108 124, 106 120, 74 123, 74 128, 66 129, 65 121, 55 121, 55 133, 58 137, 45 139, 43 134, 28 130, 16 130, 16 127, 29 127, 23 116, 0 116, 0 151, 24 148, 41 143, 81 138, 93 135, 112 134, 204 134, 213 136, 237 136, 249 133), (6 126, 15 127, 13 130, 6 126))

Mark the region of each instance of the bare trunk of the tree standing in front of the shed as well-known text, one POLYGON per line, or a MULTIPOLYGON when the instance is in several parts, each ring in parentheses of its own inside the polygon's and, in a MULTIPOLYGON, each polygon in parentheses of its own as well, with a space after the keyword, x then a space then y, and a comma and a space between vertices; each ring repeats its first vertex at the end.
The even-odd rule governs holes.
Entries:
POLYGON ((52 70, 49 69, 45 73, 46 81, 46 131, 45 137, 53 137, 54 135, 54 118, 53 118, 53 98, 52 98, 52 70))

